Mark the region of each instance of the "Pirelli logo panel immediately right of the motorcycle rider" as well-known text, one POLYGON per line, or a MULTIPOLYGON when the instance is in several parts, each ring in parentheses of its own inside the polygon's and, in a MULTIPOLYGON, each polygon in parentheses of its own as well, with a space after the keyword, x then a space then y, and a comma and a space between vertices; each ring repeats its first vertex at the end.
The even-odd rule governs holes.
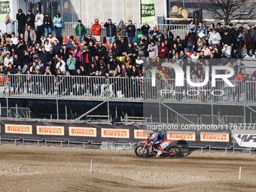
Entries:
POLYGON ((196 141, 196 133, 167 131, 167 139, 183 140, 183 141, 196 141))

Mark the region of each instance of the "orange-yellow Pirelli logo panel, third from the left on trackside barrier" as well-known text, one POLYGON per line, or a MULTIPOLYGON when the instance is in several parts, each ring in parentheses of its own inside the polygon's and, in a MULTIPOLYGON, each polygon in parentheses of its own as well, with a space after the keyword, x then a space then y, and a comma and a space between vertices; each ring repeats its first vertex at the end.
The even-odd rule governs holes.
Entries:
POLYGON ((96 128, 69 126, 69 136, 96 137, 96 128))

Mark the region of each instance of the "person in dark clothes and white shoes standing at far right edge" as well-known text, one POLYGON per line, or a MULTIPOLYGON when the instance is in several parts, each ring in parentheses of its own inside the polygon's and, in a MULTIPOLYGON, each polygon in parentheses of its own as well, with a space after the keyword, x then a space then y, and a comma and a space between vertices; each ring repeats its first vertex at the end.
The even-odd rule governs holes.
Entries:
POLYGON ((247 55, 245 58, 248 58, 250 56, 250 48, 251 48, 251 56, 252 58, 255 58, 254 52, 255 52, 255 47, 254 47, 254 42, 256 41, 256 35, 254 29, 251 29, 251 26, 248 25, 247 29, 245 30, 245 44, 246 44, 246 49, 247 49, 247 55))

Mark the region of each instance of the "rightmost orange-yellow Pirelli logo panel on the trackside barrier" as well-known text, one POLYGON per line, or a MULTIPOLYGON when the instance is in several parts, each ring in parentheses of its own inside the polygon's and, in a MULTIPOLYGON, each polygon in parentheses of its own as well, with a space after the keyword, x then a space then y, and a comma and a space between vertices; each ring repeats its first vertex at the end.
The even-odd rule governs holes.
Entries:
POLYGON ((230 142, 229 133, 200 133, 201 142, 230 142))

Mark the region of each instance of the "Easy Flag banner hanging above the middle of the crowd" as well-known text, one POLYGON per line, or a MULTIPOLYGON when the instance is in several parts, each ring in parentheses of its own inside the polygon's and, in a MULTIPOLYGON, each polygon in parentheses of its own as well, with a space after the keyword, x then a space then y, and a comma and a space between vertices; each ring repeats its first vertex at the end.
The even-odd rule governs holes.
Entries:
POLYGON ((154 0, 142 0, 141 20, 142 23, 155 20, 154 0))

